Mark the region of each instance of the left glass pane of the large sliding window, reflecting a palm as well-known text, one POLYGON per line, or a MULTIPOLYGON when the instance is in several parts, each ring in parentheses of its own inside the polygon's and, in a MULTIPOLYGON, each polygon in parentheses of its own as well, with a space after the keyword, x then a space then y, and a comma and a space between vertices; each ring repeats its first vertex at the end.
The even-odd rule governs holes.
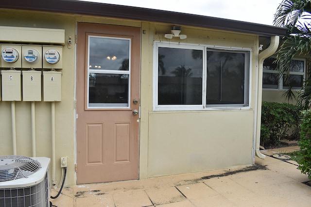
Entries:
POLYGON ((158 105, 202 105, 203 50, 158 48, 158 105))

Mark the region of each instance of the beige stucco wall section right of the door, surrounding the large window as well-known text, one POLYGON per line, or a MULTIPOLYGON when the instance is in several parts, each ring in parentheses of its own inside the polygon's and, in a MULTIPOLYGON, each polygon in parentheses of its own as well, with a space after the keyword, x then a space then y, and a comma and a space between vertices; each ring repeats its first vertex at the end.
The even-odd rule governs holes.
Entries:
POLYGON ((257 37, 184 26, 187 39, 167 40, 171 25, 143 23, 141 48, 140 177, 172 175, 253 163, 257 37), (247 110, 153 111, 154 41, 252 48, 251 107, 247 110), (145 139, 147 138, 148 139, 145 139))

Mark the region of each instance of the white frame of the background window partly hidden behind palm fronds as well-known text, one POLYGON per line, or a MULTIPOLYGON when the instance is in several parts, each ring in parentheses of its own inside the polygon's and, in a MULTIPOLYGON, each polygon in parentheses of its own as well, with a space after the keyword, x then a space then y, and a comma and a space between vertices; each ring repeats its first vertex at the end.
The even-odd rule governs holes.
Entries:
MULTIPOLYGON (((275 56, 271 56, 269 58, 274 58, 276 59, 275 56)), ((304 62, 304 65, 303 65, 303 72, 294 72, 294 71, 290 71, 290 75, 299 75, 301 76, 302 75, 302 78, 303 78, 303 81, 306 79, 306 59, 304 58, 293 58, 292 60, 297 60, 297 61, 303 61, 304 62)), ((277 70, 264 70, 262 69, 262 73, 270 73, 270 74, 278 74, 278 71, 277 70)), ((303 84, 303 83, 302 83, 303 84)), ((263 90, 288 90, 288 88, 284 88, 283 87, 283 76, 281 76, 279 79, 278 79, 278 84, 277 84, 277 88, 264 88, 263 87, 263 82, 262 82, 262 89, 263 90)), ((292 90, 300 90, 298 88, 292 88, 292 90)))

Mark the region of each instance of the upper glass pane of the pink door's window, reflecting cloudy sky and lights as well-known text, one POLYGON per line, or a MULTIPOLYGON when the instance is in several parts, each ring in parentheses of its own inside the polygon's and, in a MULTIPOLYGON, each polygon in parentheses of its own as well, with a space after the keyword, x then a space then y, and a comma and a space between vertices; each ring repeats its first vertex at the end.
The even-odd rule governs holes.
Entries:
POLYGON ((129 70, 130 40, 89 37, 89 69, 129 70))

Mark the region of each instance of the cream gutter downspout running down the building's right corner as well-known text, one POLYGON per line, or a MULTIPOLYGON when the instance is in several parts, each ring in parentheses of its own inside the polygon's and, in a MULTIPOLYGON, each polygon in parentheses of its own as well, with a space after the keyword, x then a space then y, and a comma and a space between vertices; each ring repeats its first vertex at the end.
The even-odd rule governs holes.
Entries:
POLYGON ((263 68, 263 61, 273 55, 276 52, 276 49, 278 48, 279 44, 279 36, 272 36, 271 37, 271 43, 269 48, 263 50, 262 52, 259 53, 259 68, 258 68, 258 80, 257 80, 257 85, 256 85, 256 98, 257 101, 255 103, 256 108, 255 108, 255 139, 256 139, 256 156, 259 157, 260 159, 265 159, 266 156, 260 153, 259 150, 259 145, 260 145, 260 126, 261 126, 261 102, 262 102, 262 68, 263 68))

